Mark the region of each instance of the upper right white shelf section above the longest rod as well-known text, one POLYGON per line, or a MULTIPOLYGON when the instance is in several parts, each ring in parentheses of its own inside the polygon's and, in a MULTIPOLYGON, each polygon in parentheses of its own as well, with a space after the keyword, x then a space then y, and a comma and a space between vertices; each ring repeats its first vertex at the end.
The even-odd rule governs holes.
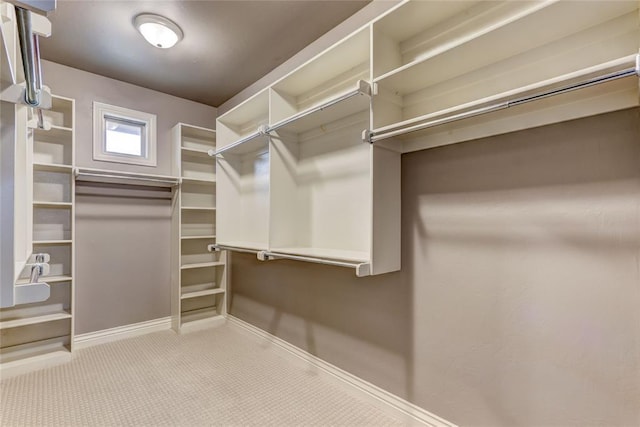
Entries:
MULTIPOLYGON (((383 134, 632 66, 637 1, 405 2, 372 24, 372 128, 383 134), (508 42, 506 42, 508 40, 508 42)), ((396 136, 403 152, 637 105, 637 79, 396 136)), ((520 105, 520 104, 518 104, 520 105)))

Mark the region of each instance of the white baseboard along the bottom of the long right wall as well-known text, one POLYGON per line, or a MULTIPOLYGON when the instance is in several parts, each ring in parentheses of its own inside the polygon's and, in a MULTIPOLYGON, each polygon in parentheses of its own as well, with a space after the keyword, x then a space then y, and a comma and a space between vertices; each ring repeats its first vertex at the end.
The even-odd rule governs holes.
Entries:
MULTIPOLYGON (((361 378, 344 371, 324 360, 298 348, 281 338, 271 335, 270 333, 259 329, 250 323, 240 320, 237 317, 227 315, 227 324, 239 331, 245 332, 246 335, 258 338, 262 342, 264 340, 273 344, 273 348, 281 351, 282 354, 295 356, 298 361, 312 365, 319 374, 325 377, 339 380, 351 386, 356 394, 365 398, 367 401, 375 404, 378 408, 395 417, 401 418, 410 425, 427 425, 431 427, 455 427, 455 424, 434 415, 419 406, 414 405, 380 387, 373 385, 361 378)), ((293 358, 292 358, 293 359, 293 358)))

